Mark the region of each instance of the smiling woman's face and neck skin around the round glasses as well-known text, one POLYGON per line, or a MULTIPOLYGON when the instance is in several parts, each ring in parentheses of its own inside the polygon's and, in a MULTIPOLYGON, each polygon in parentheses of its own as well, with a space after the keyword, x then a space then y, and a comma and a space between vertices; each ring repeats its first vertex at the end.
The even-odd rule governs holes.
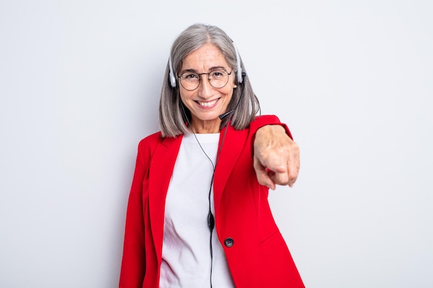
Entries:
MULTIPOLYGON (((216 68, 224 68, 228 73, 232 68, 228 65, 219 48, 213 44, 205 44, 183 59, 183 65, 178 75, 185 71, 195 73, 210 73, 216 68)), ((208 75, 201 75, 201 81, 195 90, 186 90, 179 84, 183 104, 190 109, 191 126, 195 133, 218 133, 221 120, 219 115, 225 113, 232 99, 234 73, 229 75, 228 83, 223 88, 214 88, 208 75)))

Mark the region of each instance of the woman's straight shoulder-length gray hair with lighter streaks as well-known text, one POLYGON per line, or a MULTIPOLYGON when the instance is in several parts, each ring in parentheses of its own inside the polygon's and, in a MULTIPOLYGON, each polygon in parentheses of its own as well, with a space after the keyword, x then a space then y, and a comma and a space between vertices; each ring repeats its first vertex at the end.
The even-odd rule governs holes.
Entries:
MULTIPOLYGON (((183 59, 205 44, 213 44, 219 48, 225 60, 233 69, 234 75, 237 74, 236 51, 230 37, 216 26, 194 24, 185 29, 176 40, 174 40, 172 45, 170 56, 175 76, 177 76, 178 71, 181 70, 183 59)), ((242 60, 241 69, 245 70, 242 60)), ((191 113, 181 100, 177 77, 176 88, 171 86, 169 71, 168 61, 167 67, 165 68, 165 81, 163 82, 159 102, 159 126, 163 137, 176 137, 177 135, 190 132, 188 131, 186 123, 191 121, 191 113)), ((227 111, 232 111, 235 107, 236 109, 232 115, 224 117, 221 121, 220 130, 229 120, 231 120, 230 124, 236 130, 247 128, 250 122, 255 118, 255 115, 260 113, 259 100, 252 91, 252 86, 246 79, 233 90, 232 99, 227 106, 227 111), (242 92, 243 95, 239 101, 242 92)))

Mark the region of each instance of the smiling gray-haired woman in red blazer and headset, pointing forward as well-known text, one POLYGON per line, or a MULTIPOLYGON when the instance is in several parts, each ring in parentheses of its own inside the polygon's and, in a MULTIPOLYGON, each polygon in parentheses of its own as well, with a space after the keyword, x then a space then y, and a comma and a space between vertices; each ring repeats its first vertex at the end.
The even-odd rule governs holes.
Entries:
POLYGON ((165 73, 161 131, 138 146, 121 288, 304 287, 267 196, 292 186, 297 145, 259 102, 221 29, 178 36, 165 73))

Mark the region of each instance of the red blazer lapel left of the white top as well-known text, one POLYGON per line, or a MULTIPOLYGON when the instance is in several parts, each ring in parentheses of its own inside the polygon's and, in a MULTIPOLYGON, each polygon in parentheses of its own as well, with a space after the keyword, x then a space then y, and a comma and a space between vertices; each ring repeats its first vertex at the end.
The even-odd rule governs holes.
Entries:
POLYGON ((174 164, 181 146, 182 136, 165 137, 155 148, 149 169, 149 215, 152 236, 161 261, 163 249, 165 197, 172 178, 174 164))

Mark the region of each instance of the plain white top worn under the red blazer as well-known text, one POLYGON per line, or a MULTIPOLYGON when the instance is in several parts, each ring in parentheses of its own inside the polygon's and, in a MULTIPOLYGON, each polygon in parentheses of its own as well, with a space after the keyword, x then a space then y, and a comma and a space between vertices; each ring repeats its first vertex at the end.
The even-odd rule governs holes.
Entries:
MULTIPOLYGON (((219 133, 196 134, 213 163, 219 133)), ((160 288, 210 287, 209 190, 213 166, 194 134, 183 135, 165 200, 160 288)), ((211 209, 214 214, 213 188, 211 209)), ((234 288, 221 243, 212 233, 212 287, 234 288)))

